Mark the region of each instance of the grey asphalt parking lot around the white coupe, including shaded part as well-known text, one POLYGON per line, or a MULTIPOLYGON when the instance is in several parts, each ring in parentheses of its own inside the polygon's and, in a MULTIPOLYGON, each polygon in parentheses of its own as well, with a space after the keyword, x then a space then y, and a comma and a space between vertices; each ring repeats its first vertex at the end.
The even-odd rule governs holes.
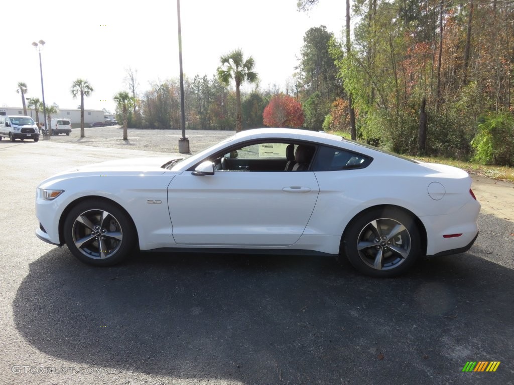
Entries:
MULTIPOLYGON (((94 268, 35 237, 35 186, 174 153, 180 136, 96 130, 0 141, 0 383, 514 383, 514 218, 481 214, 468 253, 394 279, 297 256, 134 253, 94 268), (467 361, 501 364, 463 373, 467 361)), ((188 137, 196 152, 230 134, 188 137)))

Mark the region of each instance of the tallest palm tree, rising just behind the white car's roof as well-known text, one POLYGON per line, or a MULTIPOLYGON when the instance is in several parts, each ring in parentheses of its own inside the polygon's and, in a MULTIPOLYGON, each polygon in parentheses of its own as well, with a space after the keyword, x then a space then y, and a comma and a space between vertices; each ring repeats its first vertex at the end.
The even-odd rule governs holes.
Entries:
POLYGON ((259 80, 259 76, 256 72, 253 72, 253 57, 248 57, 245 61, 243 57, 243 51, 241 49, 236 49, 235 51, 230 52, 228 55, 223 55, 220 58, 222 65, 218 67, 218 78, 219 81, 228 86, 231 79, 235 81, 235 101, 237 106, 237 111, 235 114, 235 131, 239 132, 242 128, 242 118, 241 118, 241 92, 239 87, 241 83, 255 83, 259 80))

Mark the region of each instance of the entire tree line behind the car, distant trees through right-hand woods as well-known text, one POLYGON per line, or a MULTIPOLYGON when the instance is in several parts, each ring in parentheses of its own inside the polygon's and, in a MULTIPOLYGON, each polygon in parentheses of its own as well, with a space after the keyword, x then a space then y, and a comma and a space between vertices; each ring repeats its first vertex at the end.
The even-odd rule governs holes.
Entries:
MULTIPOLYGON (((514 164, 513 0, 346 0, 345 16, 342 38, 305 32, 285 87, 263 89, 241 50, 211 75, 185 76, 186 129, 324 129, 407 155, 514 164)), ((125 83, 125 127, 180 129, 178 78, 140 91, 129 68, 125 83)))

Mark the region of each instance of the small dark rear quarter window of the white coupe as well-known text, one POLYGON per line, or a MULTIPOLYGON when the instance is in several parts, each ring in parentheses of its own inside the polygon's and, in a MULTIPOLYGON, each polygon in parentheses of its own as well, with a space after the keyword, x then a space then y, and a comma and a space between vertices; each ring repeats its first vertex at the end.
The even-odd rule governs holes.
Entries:
POLYGON ((313 171, 337 171, 364 168, 373 159, 341 148, 321 146, 314 161, 313 171))

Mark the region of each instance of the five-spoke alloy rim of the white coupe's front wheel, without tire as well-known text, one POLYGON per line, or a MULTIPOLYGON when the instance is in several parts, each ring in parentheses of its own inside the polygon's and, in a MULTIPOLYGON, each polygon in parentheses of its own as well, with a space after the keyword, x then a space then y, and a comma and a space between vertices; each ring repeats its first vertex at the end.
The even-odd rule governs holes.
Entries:
POLYGON ((121 247, 123 233, 119 221, 105 210, 87 210, 71 229, 77 249, 88 258, 106 259, 121 247))

